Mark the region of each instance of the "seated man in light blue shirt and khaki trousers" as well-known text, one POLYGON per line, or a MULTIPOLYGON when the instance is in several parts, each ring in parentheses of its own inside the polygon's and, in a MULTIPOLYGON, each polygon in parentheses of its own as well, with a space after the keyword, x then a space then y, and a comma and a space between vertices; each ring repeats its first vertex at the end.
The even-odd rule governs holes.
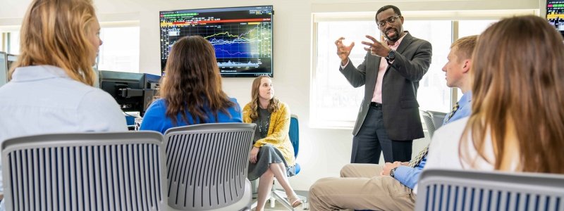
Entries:
MULTIPOLYGON (((446 115, 443 124, 467 117, 471 112, 470 65, 477 36, 462 37, 450 46, 443 67, 448 87, 458 87, 464 95, 446 115)), ((458 140, 453 140, 458 141, 458 140)), ((410 162, 386 162, 384 166, 350 164, 341 170, 342 178, 319 179, 309 189, 309 208, 315 210, 413 210, 419 174, 427 162, 428 148, 410 162), (388 177, 389 176, 389 177, 388 177)))

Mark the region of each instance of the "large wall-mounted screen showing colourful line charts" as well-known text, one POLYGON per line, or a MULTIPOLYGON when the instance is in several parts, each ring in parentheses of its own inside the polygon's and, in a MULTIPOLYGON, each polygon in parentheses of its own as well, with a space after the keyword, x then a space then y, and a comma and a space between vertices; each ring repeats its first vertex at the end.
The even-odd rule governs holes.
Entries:
POLYGON ((161 11, 162 74, 174 42, 200 35, 214 46, 222 77, 274 77, 272 15, 272 6, 161 11))

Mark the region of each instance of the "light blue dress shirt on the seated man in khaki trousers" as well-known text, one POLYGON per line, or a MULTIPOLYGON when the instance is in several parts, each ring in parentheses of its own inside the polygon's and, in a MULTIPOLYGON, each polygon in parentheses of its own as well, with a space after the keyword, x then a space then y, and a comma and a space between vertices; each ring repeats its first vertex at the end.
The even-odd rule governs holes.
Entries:
MULTIPOLYGON (((450 117, 450 119, 448 119, 448 115, 446 115, 445 120, 443 120, 443 125, 470 116, 470 113, 472 113, 472 104, 470 101, 472 101, 472 92, 467 91, 464 95, 462 95, 460 101, 458 101, 458 110, 456 110, 453 117, 450 117)), ((421 162, 419 162, 419 165, 415 167, 402 165, 393 172, 393 178, 400 181, 401 184, 413 189, 417 184, 417 181, 419 181, 419 174, 423 172, 423 167, 425 167, 426 162, 427 155, 423 158, 423 160, 421 160, 421 162)))

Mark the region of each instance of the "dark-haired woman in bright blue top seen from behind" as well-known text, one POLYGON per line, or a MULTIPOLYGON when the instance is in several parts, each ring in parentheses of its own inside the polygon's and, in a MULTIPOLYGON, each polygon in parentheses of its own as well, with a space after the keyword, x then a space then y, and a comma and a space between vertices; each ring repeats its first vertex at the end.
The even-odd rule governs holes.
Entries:
POLYGON ((200 36, 178 39, 168 55, 159 98, 143 117, 140 130, 164 134, 171 127, 243 122, 235 98, 221 89, 214 47, 200 36))

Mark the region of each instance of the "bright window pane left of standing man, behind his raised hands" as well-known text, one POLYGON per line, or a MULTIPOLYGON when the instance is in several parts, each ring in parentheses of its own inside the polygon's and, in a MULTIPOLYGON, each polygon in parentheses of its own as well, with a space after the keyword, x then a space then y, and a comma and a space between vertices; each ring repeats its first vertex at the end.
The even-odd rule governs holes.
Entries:
POLYGON ((355 47, 349 58, 350 62, 359 65, 366 54, 360 41, 366 40, 364 34, 376 34, 375 26, 374 21, 323 22, 317 25, 317 67, 312 83, 314 109, 310 112, 314 115, 312 120, 331 121, 336 127, 346 127, 355 121, 364 89, 353 89, 339 72, 341 60, 336 55, 334 41, 338 37, 345 37, 344 42, 348 45, 354 40, 355 47))

